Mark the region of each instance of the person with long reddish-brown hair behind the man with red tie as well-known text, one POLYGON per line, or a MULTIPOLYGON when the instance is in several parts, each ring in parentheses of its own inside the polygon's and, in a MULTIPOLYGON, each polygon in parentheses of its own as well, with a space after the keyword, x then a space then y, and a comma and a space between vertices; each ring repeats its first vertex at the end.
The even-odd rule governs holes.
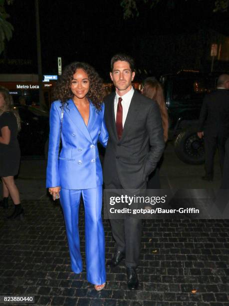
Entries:
MULTIPOLYGON (((168 122, 168 112, 166 109, 162 85, 155 77, 147 77, 144 80, 143 84, 144 86, 141 90, 142 94, 158 103, 161 117, 162 117, 164 140, 166 142, 168 140, 169 122, 168 122)), ((161 188, 159 168, 160 168, 160 161, 158 162, 156 169, 149 175, 149 180, 147 183, 148 189, 160 189, 161 188)))

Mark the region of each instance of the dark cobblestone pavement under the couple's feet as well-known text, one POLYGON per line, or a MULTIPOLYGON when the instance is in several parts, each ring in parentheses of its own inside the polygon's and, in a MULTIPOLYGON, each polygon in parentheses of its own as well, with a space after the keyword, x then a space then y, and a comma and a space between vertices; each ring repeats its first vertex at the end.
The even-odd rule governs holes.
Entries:
MULTIPOLYGON (((86 280, 85 263, 82 273, 71 272, 60 206, 24 200, 23 207, 23 221, 1 217, 1 294, 34 295, 35 305, 229 305, 229 220, 145 220, 139 290, 127 289, 123 261, 107 268, 106 287, 97 292, 86 280)), ((84 257, 83 205, 80 211, 84 257)), ((104 227, 110 258, 108 220, 104 227)))

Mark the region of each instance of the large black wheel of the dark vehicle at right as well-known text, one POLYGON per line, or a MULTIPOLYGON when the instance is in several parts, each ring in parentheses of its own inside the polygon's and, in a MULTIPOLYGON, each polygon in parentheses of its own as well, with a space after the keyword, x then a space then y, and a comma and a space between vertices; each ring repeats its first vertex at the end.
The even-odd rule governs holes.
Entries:
POLYGON ((190 164, 202 164, 205 161, 204 140, 197 135, 197 129, 183 130, 177 136, 175 152, 179 159, 190 164))

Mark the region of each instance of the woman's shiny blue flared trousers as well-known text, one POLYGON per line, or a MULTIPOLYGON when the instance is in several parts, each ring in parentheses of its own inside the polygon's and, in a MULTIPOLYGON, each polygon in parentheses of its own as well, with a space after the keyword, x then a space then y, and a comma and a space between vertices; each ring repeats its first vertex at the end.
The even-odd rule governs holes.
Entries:
POLYGON ((82 257, 78 229, 79 203, 82 194, 85 208, 85 254, 87 280, 93 284, 106 281, 105 237, 101 217, 102 186, 91 189, 60 190, 60 202, 64 213, 71 269, 82 271, 82 257))

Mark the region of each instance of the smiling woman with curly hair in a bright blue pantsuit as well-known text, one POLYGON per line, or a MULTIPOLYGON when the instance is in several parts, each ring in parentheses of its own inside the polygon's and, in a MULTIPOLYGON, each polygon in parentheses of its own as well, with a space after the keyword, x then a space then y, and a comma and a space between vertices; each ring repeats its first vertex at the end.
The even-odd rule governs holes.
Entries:
POLYGON ((58 100, 50 109, 50 135, 46 187, 60 197, 75 273, 82 271, 78 212, 80 196, 85 208, 87 280, 96 290, 105 286, 105 239, 101 218, 102 167, 97 141, 106 146, 102 80, 94 68, 73 62, 56 85, 58 100), (59 154, 60 137, 62 149, 59 154))

